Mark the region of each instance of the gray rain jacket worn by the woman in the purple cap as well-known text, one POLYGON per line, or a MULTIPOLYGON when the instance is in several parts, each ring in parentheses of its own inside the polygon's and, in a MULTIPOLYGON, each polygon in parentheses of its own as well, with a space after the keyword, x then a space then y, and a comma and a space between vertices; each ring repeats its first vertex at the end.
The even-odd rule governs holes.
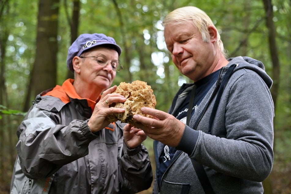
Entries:
POLYGON ((38 95, 17 129, 17 159, 10 193, 136 193, 151 186, 147 149, 129 150, 123 126, 95 134, 86 99, 63 103, 38 95))

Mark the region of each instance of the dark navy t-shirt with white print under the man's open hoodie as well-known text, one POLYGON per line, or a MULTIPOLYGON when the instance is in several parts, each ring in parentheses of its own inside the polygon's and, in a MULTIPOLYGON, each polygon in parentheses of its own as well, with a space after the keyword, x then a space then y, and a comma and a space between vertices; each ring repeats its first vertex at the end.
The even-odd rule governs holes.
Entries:
MULTIPOLYGON (((192 108, 192 115, 194 114, 196 107, 200 104, 204 96, 207 94, 207 92, 216 82, 218 78, 218 74, 219 74, 219 70, 195 82, 196 91, 195 91, 195 98, 194 98, 194 103, 193 103, 193 108, 192 108)), ((187 120, 187 112, 188 112, 188 105, 189 105, 190 97, 191 97, 191 92, 189 92, 187 98, 185 99, 185 102, 180 107, 178 114, 174 115, 177 119, 182 121, 184 124, 186 124, 186 120, 187 120)), ((166 172, 166 169, 170 166, 173 160, 173 157, 175 155, 175 152, 176 152, 175 147, 169 147, 167 145, 164 146, 164 151, 159 156, 160 165, 159 165, 159 170, 157 174, 159 184, 161 183, 162 175, 166 172)))

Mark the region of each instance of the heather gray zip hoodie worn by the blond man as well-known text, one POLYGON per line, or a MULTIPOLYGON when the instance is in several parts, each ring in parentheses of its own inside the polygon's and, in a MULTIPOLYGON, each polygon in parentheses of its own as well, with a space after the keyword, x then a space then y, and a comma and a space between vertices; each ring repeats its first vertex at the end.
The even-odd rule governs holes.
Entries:
MULTIPOLYGON (((229 59, 186 125, 161 185, 155 178, 153 193, 204 193, 191 159, 203 165, 215 193, 263 193, 261 182, 270 174, 274 160, 271 85, 261 62, 248 57, 229 59), (217 112, 211 115, 216 88, 233 64, 237 65, 224 86, 217 112)), ((176 114, 192 86, 180 88, 170 114, 176 114)), ((157 169, 162 151, 163 144, 155 141, 157 169)))

